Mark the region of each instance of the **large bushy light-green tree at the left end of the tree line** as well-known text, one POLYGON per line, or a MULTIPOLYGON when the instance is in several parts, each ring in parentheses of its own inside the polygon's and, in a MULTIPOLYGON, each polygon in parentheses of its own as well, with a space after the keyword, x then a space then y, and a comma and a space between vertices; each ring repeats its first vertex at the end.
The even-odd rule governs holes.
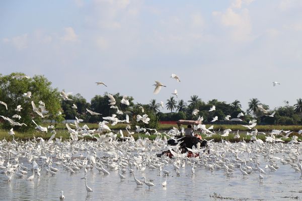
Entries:
MULTIPOLYGON (((5 102, 8 106, 8 110, 6 110, 4 105, 0 105, 0 114, 15 122, 27 125, 27 127, 14 126, 14 130, 28 130, 35 127, 32 120, 37 124, 42 121, 42 118, 33 111, 31 102, 33 101, 39 109, 39 102, 42 101, 45 104, 46 111, 48 111, 44 114, 44 119, 62 121, 63 117, 58 114, 61 111, 61 98, 58 90, 52 88, 51 82, 43 75, 35 75, 32 78, 21 77, 22 75, 25 76, 24 73, 0 76, 0 101, 5 102), (20 76, 13 78, 16 75, 20 76), (28 91, 32 95, 25 97, 23 94, 28 91), (22 107, 20 112, 15 110, 18 105, 22 107), (15 114, 20 115, 21 119, 12 118, 15 114)), ((2 122, 4 128, 13 127, 8 121, 2 122)))

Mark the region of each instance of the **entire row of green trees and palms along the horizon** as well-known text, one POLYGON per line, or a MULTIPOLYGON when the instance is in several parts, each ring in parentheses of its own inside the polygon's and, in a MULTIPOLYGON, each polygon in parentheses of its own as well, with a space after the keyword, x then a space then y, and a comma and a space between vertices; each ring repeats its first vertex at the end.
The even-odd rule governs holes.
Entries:
MULTIPOLYGON (((6 110, 6 107, 0 105, 0 115, 12 118, 15 114, 18 114, 22 117, 19 121, 29 125, 32 124, 32 120, 36 123, 43 120, 60 122, 64 119, 75 119, 75 117, 83 119, 84 122, 97 123, 103 121, 102 117, 112 115, 117 115, 116 117, 121 120, 125 118, 125 115, 128 115, 133 126, 140 125, 148 128, 157 128, 159 121, 196 120, 198 117, 203 117, 204 122, 211 122, 215 116, 218 117, 217 122, 228 124, 229 121, 224 120, 225 117, 237 118, 239 113, 244 114, 240 117, 244 121, 243 123, 247 123, 252 119, 256 119, 258 124, 270 125, 297 125, 302 123, 301 98, 298 98, 293 106, 286 103, 285 106, 273 110, 270 110, 268 105, 261 103, 258 98, 251 98, 248 102, 248 109, 243 111, 241 102, 237 99, 232 103, 221 102, 217 99, 205 103, 197 94, 194 94, 187 101, 183 99, 177 101, 174 96, 171 96, 164 104, 158 103, 156 99, 151 99, 148 104, 134 104, 134 98, 130 96, 128 97, 129 105, 125 105, 121 104, 123 96, 116 93, 113 94, 116 104, 111 106, 109 105, 107 92, 103 95, 95 95, 90 103, 80 93, 68 95, 68 98, 72 100, 64 100, 61 98, 59 90, 52 88, 51 82, 43 75, 35 75, 31 78, 20 77, 21 75, 25 76, 23 73, 0 75, 0 101, 8 106, 8 110, 6 110), (31 97, 24 95, 27 91, 31 91, 31 97), (45 105, 47 110, 45 117, 41 118, 33 111, 32 101, 37 105, 41 101, 45 105), (18 105, 22 106, 21 111, 16 111, 18 105), (209 112, 212 106, 215 106, 215 110, 209 112), (91 115, 87 113, 86 109, 102 115, 91 115), (170 112, 161 112, 164 109, 170 112), (192 115, 195 109, 199 112, 197 115, 192 115), (273 112, 274 115, 271 116, 273 112), (137 123, 135 117, 138 114, 147 114, 150 118, 149 125, 137 123)), ((0 118, 0 121, 3 123, 2 127, 12 127, 11 123, 3 118, 0 118)), ((23 127, 23 129, 25 128, 23 127)))

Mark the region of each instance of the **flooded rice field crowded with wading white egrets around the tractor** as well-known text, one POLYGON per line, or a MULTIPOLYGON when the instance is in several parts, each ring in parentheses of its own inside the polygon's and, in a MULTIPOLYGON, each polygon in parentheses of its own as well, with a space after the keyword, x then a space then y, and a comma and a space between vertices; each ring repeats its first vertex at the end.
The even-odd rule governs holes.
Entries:
POLYGON ((64 200, 302 199, 300 147, 208 143, 209 154, 199 149, 196 158, 179 152, 169 158, 156 155, 176 150, 161 139, 2 142, 0 200, 59 200, 61 191, 64 200), (22 170, 27 175, 20 175, 22 170), (85 180, 92 192, 87 191, 85 180))

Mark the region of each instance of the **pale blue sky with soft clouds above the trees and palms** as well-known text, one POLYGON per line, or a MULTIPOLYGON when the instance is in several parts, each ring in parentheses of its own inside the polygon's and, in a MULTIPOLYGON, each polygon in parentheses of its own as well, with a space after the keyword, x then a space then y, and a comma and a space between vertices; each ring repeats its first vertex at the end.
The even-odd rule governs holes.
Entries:
POLYGON ((167 103, 177 89, 177 101, 292 106, 302 97, 301 9, 299 0, 1 1, 0 73, 44 75, 88 102, 120 92, 167 103), (167 85, 158 94, 155 80, 167 85))

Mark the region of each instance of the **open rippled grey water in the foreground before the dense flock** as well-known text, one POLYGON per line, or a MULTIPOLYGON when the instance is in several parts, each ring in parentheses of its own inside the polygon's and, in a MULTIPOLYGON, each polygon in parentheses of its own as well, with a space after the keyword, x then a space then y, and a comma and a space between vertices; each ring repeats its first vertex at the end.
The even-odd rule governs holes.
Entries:
MULTIPOLYGON (((274 156, 282 157, 282 153, 274 156)), ((265 158, 260 157, 261 167, 264 169, 265 158)), ((148 167, 144 172, 135 169, 138 179, 145 176, 153 179, 156 186, 136 187, 133 175, 123 173, 126 179, 120 180, 118 171, 110 171, 104 175, 95 168, 88 170, 87 183, 93 189, 87 195, 85 181, 81 178, 84 171, 70 174, 62 167, 55 176, 48 176, 45 169, 41 170, 41 177, 35 176, 33 181, 18 178, 14 173, 11 182, 5 181, 5 175, 0 174, 0 200, 59 200, 61 190, 64 191, 65 200, 289 200, 302 199, 302 178, 290 165, 282 165, 275 172, 266 169, 263 182, 259 183, 259 174, 242 177, 239 168, 236 168, 230 177, 225 175, 224 169, 214 169, 213 172, 205 167, 195 167, 195 174, 191 172, 192 166, 186 164, 180 167, 180 176, 176 176, 172 163, 164 169, 170 171, 167 178, 167 187, 162 187, 165 176, 159 175, 159 169, 151 170, 148 167)), ((30 164, 25 164, 30 167, 30 164)), ((106 168, 109 170, 109 168, 106 168)), ((32 175, 32 171, 28 171, 32 175)))

